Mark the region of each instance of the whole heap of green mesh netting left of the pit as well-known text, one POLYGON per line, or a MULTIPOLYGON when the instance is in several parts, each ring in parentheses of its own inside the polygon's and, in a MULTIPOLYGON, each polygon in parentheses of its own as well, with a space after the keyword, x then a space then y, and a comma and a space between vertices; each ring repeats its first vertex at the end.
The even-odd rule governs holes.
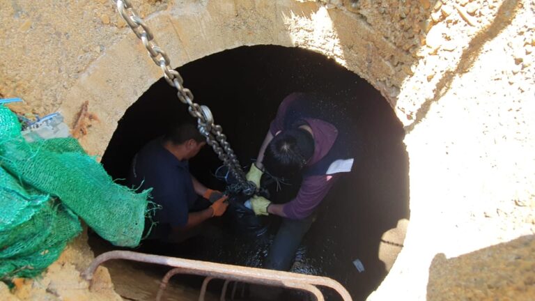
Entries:
POLYGON ((76 139, 27 143, 20 130, 0 105, 0 279, 42 272, 79 233, 78 217, 114 245, 139 245, 148 192, 114 183, 76 139))

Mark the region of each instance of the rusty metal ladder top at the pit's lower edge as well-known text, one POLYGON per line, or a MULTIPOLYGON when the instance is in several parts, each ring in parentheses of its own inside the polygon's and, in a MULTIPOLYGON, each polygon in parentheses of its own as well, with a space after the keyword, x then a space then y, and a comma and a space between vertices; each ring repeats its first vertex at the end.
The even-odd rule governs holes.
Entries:
MULTIPOLYGON (((264 270, 260 268, 247 268, 238 265, 226 265, 222 263, 210 263, 207 261, 194 261, 190 259, 160 256, 153 254, 144 254, 131 251, 111 251, 100 254, 93 260, 93 263, 82 273, 84 279, 91 281, 93 273, 98 266, 104 261, 111 259, 126 259, 130 261, 139 261, 144 263, 155 263, 160 265, 169 265, 173 268, 166 273, 160 284, 160 291, 157 293, 156 300, 160 301, 164 290, 169 283, 169 279, 176 274, 205 276, 199 294, 199 300, 204 300, 206 288, 212 279, 225 279, 219 300, 225 300, 226 290, 230 281, 245 282, 250 284, 262 284, 266 286, 279 286, 284 288, 293 288, 300 291, 309 292, 315 300, 323 301, 323 293, 316 286, 325 286, 332 288, 341 295, 342 300, 352 301, 346 288, 338 281, 328 277, 319 277, 312 275, 302 275, 292 272, 281 272, 276 270, 264 270)), ((234 295, 236 285, 234 285, 232 295, 234 295)))

